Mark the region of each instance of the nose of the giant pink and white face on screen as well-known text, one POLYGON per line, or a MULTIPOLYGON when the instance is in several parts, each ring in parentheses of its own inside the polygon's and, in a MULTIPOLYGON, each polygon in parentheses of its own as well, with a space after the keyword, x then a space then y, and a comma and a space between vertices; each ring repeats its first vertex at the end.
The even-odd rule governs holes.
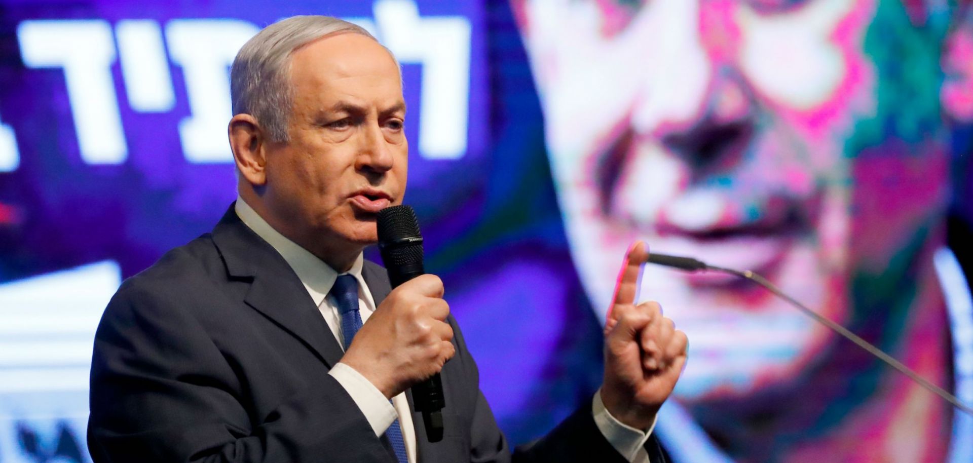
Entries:
POLYGON ((661 37, 631 125, 670 153, 703 167, 726 161, 753 132, 753 93, 737 69, 736 2, 668 1, 661 37))

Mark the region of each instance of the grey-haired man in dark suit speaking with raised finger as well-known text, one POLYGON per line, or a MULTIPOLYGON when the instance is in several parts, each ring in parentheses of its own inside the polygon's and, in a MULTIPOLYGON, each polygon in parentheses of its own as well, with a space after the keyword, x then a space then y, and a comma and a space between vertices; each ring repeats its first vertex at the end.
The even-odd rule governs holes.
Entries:
POLYGON ((439 278, 391 290, 362 258, 406 185, 394 57, 353 24, 289 18, 240 50, 232 88, 239 197, 106 308, 94 461, 665 461, 651 429, 686 338, 658 304, 634 303, 643 244, 619 279, 592 405, 511 455, 439 278), (437 372, 446 432, 429 443, 409 388, 437 372))

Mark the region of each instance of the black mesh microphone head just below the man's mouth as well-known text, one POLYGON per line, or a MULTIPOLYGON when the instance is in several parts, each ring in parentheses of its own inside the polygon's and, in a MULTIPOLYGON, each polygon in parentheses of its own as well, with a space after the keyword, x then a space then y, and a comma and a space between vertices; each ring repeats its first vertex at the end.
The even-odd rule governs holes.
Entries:
POLYGON ((392 287, 425 272, 422 235, 413 208, 405 204, 378 211, 378 248, 392 287))

